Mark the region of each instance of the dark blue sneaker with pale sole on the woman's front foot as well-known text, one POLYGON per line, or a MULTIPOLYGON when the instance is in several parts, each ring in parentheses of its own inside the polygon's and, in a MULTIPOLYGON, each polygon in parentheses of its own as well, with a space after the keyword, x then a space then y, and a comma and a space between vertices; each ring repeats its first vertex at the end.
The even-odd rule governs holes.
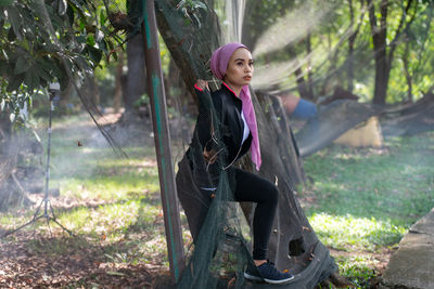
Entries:
POLYGON ((244 277, 254 281, 266 281, 268 284, 285 284, 294 279, 290 273, 282 273, 275 267, 275 264, 267 261, 257 266, 256 270, 247 268, 244 277))

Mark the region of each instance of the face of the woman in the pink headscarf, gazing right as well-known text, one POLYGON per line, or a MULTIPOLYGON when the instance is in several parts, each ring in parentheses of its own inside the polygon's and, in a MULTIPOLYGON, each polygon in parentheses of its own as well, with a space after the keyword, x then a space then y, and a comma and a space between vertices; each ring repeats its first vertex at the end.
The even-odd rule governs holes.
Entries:
POLYGON ((239 48, 229 60, 224 81, 232 89, 241 90, 243 86, 251 83, 253 70, 252 53, 245 48, 239 48))

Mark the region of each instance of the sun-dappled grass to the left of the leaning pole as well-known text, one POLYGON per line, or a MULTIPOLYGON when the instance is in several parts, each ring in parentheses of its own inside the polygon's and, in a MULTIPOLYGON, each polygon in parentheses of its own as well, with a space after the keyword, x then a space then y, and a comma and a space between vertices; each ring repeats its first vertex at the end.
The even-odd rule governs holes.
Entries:
MULTIPOLYGON (((59 222, 79 237, 73 247, 101 246, 103 261, 107 262, 168 267, 154 148, 124 147, 128 155, 124 158, 104 141, 94 140, 95 135, 101 136, 89 121, 73 117, 54 123, 50 187, 61 192, 61 206, 53 200, 59 222)), ((41 139, 46 135, 43 131, 39 134, 41 139)), ((47 140, 42 139, 42 143, 46 146, 47 140)), ((33 213, 2 213, 0 225, 17 226, 31 219, 33 213)), ((24 229, 36 227, 42 234, 50 229, 44 222, 24 229)), ((51 225, 51 229, 55 227, 51 225)), ((65 244, 60 240, 49 248, 33 242, 31 248, 47 254, 68 251, 62 242, 65 244)))

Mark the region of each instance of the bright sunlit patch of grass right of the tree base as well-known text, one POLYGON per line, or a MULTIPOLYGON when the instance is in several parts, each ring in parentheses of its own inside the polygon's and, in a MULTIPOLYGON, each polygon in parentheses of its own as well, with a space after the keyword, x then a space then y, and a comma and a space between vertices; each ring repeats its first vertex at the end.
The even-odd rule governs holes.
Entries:
POLYGON ((399 242, 406 228, 391 221, 374 218, 355 218, 347 215, 314 214, 309 222, 320 240, 337 250, 375 251, 378 248, 399 242))

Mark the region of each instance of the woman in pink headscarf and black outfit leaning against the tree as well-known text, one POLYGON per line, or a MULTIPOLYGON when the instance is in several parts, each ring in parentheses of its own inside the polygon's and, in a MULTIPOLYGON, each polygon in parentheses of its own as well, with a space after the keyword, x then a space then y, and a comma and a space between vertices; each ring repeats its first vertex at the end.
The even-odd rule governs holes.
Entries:
MULTIPOLYGON (((294 277, 278 271, 267 261, 268 240, 278 203, 277 187, 256 174, 233 167, 248 149, 256 170, 259 170, 261 163, 256 117, 248 90, 254 73, 252 53, 241 43, 226 44, 213 53, 210 69, 222 80, 221 88, 212 92, 221 135, 220 141, 215 137, 214 126, 217 121, 209 111, 210 105, 204 103, 204 94, 209 93, 208 83, 197 80, 195 89, 200 102, 199 117, 186 157, 201 198, 192 202, 192 198, 188 199, 184 194, 179 194, 186 212, 190 212, 187 214, 190 231, 196 240, 206 216, 207 205, 215 196, 219 174, 221 170, 227 170, 233 183, 233 199, 257 203, 253 220, 253 259, 257 271, 247 271, 244 276, 271 284, 288 283, 294 277), (216 159, 222 152, 225 157, 221 163, 216 159)), ((181 169, 180 163, 180 171, 181 169)), ((177 183, 180 182, 177 176, 177 183)))

